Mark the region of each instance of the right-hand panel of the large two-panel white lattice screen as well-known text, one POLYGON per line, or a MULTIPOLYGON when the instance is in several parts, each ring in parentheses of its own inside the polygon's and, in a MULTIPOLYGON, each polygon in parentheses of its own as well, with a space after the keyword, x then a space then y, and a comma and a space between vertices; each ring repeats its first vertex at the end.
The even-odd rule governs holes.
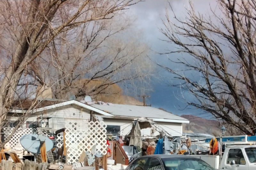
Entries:
POLYGON ((101 122, 89 122, 89 129, 87 131, 87 136, 85 138, 86 148, 91 152, 91 148, 96 144, 96 149, 102 153, 102 155, 107 154, 107 125, 101 122))

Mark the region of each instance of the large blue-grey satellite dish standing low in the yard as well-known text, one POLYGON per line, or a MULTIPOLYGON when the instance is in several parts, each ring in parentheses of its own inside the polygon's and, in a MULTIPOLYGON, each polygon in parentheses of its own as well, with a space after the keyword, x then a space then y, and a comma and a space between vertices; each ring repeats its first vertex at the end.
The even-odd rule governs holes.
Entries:
POLYGON ((21 146, 28 152, 39 154, 41 153, 41 145, 45 141, 46 152, 50 151, 53 148, 52 140, 48 137, 29 134, 23 135, 20 137, 21 146))

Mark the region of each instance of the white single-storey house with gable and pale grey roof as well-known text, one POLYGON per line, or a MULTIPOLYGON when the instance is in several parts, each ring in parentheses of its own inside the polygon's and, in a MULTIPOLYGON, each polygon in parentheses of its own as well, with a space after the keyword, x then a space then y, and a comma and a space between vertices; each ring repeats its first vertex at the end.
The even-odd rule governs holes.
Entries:
MULTIPOLYGON (((28 101, 22 104, 23 110, 19 107, 15 107, 9 112, 8 116, 10 117, 10 122, 19 120, 19 115, 29 107, 28 101)), ((173 137, 182 136, 182 123, 189 123, 185 118, 154 107, 120 104, 88 105, 76 100, 60 101, 49 99, 42 101, 39 107, 35 109, 33 114, 24 122, 23 127, 29 127, 33 122, 38 123, 38 120, 40 120, 42 116, 49 118, 49 128, 53 129, 64 128, 65 121, 82 122, 82 124, 86 126, 92 115, 102 116, 103 121, 107 124, 109 134, 118 134, 121 136, 130 132, 132 119, 134 118, 146 117, 151 119, 173 137)), ((14 124, 10 123, 10 126, 14 126, 14 124)), ((141 129, 141 133, 144 136, 149 136, 150 129, 141 129)), ((158 134, 158 132, 155 132, 154 136, 158 134)))

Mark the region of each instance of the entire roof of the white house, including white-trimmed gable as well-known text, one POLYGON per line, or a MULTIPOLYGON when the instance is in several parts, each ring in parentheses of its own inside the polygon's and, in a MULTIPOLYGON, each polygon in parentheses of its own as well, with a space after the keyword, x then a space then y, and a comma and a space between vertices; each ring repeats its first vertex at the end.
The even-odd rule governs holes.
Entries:
MULTIPOLYGON (((23 101, 22 104, 13 106, 11 113, 23 113, 21 110, 21 106, 24 110, 29 108, 29 103, 32 100, 23 101), (20 106, 20 107, 19 107, 20 106)), ((39 102, 40 103, 40 102, 39 102)), ((44 100, 42 101, 38 107, 33 110, 33 113, 54 109, 57 107, 63 107, 67 105, 76 105, 87 110, 92 110, 96 113, 105 116, 128 116, 128 117, 147 117, 153 119, 155 122, 176 122, 176 123, 189 123, 189 121, 185 118, 182 118, 177 115, 173 115, 169 112, 165 112, 155 107, 144 107, 144 106, 134 106, 134 105, 120 105, 120 104, 113 104, 113 105, 101 105, 101 104, 92 104, 87 105, 77 100, 69 100, 69 101, 61 101, 61 100, 44 100)))

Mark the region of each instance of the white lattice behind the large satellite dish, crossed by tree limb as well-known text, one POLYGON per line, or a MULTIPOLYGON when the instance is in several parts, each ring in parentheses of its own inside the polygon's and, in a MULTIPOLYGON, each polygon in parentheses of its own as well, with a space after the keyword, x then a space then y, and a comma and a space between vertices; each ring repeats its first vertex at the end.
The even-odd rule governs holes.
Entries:
MULTIPOLYGON (((4 128, 4 140, 6 140, 11 135, 13 129, 14 128, 4 128)), ((9 140, 11 148, 14 149, 17 142, 20 141, 20 137, 27 134, 33 134, 35 130, 36 129, 32 128, 23 128, 16 130, 16 132, 12 135, 12 138, 9 140)))

